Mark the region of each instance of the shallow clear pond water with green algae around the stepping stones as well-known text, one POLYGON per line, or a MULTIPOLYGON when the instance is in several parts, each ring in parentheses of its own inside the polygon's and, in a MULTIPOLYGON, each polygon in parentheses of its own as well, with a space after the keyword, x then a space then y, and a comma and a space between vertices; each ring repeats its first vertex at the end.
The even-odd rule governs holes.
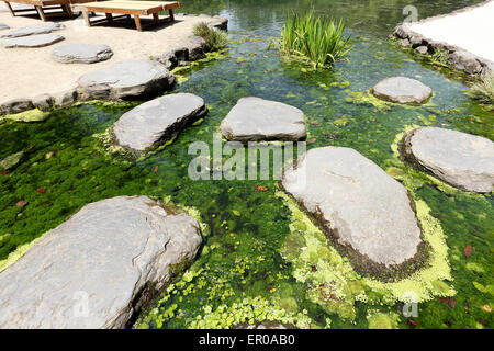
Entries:
POLYGON ((87 203, 146 194, 195 208, 207 230, 195 263, 143 314, 137 327, 217 327, 218 319, 232 327, 247 305, 255 306, 255 316, 263 316, 252 319, 287 313, 300 315, 312 328, 328 326, 328 320, 333 328, 367 328, 367 317, 379 312, 396 316, 393 324, 401 328, 494 327, 492 194, 444 186, 402 165, 392 148, 397 135, 413 125, 494 138, 492 106, 479 105, 464 94, 464 77, 420 63, 386 41, 404 19, 405 5, 415 5, 420 19, 476 2, 189 1, 181 11, 229 19, 232 44, 226 57, 195 66, 177 87, 202 97, 210 107, 207 117, 135 163, 106 155, 94 135, 137 103, 81 104, 36 124, 1 122, 0 158, 20 150, 26 155, 14 171, 0 174, 0 260, 87 203), (284 60, 272 47, 288 10, 308 7, 344 18, 352 35, 355 48, 348 60, 333 69, 312 71, 284 60), (396 75, 420 79, 433 88, 433 100, 409 107, 368 98, 375 82, 396 75), (416 201, 427 204, 445 234, 452 278, 448 284, 456 291, 452 299, 436 296, 419 303, 412 322, 400 317, 403 304, 375 303, 379 296, 328 309, 308 296, 307 283, 295 278, 294 261, 284 254, 294 214, 277 181, 190 180, 188 166, 194 156, 188 155, 189 145, 197 140, 212 145, 222 118, 246 95, 302 109, 308 122, 308 148, 351 147, 392 174, 397 174, 392 171, 396 169, 406 172, 404 184, 416 201), (36 191, 40 188, 45 192, 36 191), (27 205, 16 206, 21 200, 27 205), (472 253, 465 258, 468 245, 472 253))

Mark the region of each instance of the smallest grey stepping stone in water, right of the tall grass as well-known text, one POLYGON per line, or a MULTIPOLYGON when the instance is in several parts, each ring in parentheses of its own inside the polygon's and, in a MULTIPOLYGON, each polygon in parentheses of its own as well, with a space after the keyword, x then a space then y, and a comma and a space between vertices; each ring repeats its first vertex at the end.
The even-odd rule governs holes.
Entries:
POLYGON ((430 99, 433 90, 415 79, 392 77, 377 83, 372 88, 372 93, 385 101, 420 104, 430 99))

